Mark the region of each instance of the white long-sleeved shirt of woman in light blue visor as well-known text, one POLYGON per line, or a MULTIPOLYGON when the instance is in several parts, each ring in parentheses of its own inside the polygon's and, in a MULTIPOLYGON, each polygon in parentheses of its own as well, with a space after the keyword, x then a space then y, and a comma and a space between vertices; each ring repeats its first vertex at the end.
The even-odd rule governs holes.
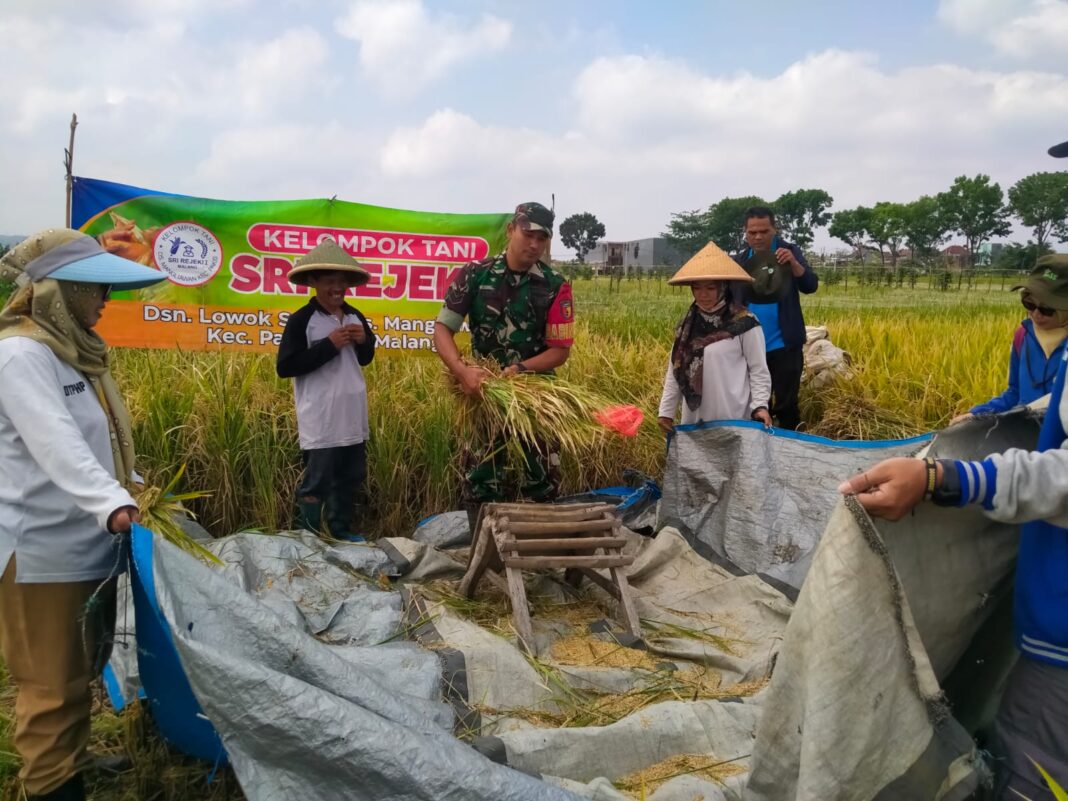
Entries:
POLYGON ((0 572, 14 554, 19 582, 106 578, 119 555, 108 517, 134 505, 85 376, 40 342, 0 340, 0 572))

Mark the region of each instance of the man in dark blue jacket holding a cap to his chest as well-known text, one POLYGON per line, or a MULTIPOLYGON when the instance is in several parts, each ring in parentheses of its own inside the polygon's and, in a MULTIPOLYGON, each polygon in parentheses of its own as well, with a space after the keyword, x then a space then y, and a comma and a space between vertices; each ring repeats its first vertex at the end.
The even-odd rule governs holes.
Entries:
POLYGON ((798 391, 804 368, 804 317, 801 295, 811 295, 819 279, 801 249, 784 241, 775 230, 775 215, 767 206, 745 210, 749 247, 735 261, 753 283, 734 284, 734 296, 760 320, 771 373, 771 415, 780 428, 795 430, 801 422, 798 391))

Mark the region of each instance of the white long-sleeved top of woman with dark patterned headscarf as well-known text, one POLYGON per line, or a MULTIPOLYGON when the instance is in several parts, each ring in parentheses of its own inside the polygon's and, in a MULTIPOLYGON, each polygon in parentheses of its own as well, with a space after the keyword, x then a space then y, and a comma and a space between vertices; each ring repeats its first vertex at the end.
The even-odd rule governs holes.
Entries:
POLYGON ((764 331, 751 328, 729 340, 705 346, 702 368, 701 406, 691 409, 682 399, 682 390, 668 359, 664 390, 660 396, 658 417, 675 419, 682 405, 682 424, 708 420, 749 420, 771 399, 771 374, 764 351, 764 331))

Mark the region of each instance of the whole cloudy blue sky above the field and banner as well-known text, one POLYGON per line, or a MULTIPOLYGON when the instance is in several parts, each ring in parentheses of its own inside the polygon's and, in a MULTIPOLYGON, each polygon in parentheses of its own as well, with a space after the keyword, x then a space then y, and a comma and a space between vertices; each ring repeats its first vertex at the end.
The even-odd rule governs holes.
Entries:
POLYGON ((87 177, 454 213, 555 195, 618 240, 723 197, 849 208, 1068 167, 1046 153, 1068 0, 7 0, 0 42, 0 234, 62 224, 72 112, 87 177))

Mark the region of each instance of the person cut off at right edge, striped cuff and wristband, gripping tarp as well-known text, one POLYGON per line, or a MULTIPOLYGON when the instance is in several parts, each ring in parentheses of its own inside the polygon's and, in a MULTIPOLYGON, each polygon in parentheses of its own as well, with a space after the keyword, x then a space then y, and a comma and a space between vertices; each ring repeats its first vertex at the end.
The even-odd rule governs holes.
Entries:
MULTIPOLYGON (((1050 148, 1068 157, 1068 142, 1050 148)), ((1064 258, 1064 256, 1061 256, 1064 258)), ((1051 271, 1052 272, 1052 271, 1051 271)), ((1055 277, 1056 273, 1052 273, 1055 277)), ((1051 280, 1053 280, 1051 278, 1051 280)), ((899 520, 916 504, 980 504, 1019 522, 1014 628, 1021 659, 998 710, 998 799, 1051 798, 1032 764, 1068 780, 1068 394, 1061 359, 1038 447, 981 461, 888 459, 843 483, 875 517, 899 520)))

